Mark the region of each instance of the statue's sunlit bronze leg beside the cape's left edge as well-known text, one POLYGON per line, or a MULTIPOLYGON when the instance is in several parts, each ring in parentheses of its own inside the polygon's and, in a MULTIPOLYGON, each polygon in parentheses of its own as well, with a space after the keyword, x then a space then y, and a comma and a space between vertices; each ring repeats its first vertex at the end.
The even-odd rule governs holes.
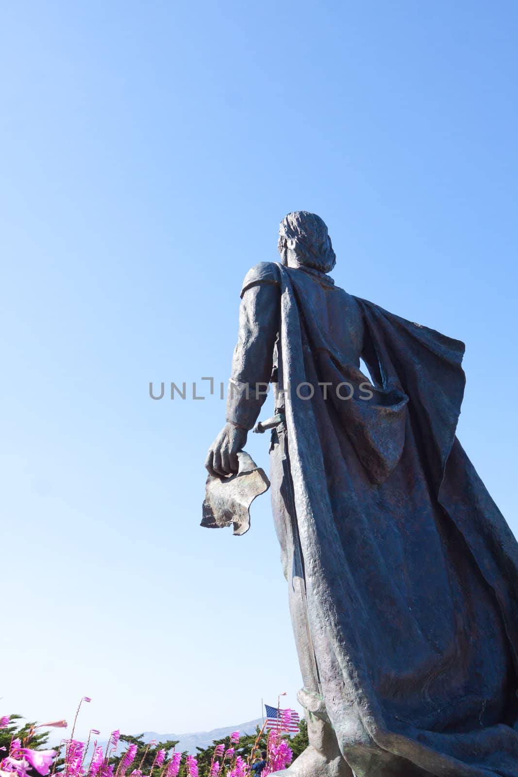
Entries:
MULTIPOLYGON (((308 722, 309 747, 295 759, 286 777, 353 777, 340 753, 335 732, 325 711, 318 664, 311 643, 306 605, 304 563, 294 515, 289 460, 283 432, 273 434, 270 451, 273 518, 280 542, 283 572, 288 581, 288 602, 304 688, 297 698, 308 722)), ((277 772, 276 772, 277 774, 277 772)))

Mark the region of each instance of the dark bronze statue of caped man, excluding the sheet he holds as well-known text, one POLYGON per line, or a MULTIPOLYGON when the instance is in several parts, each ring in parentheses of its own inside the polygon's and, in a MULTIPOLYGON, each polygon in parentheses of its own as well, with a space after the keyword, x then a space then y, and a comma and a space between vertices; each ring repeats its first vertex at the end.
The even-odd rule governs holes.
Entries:
POLYGON ((238 472, 271 382, 310 738, 286 773, 516 777, 518 545, 455 437, 464 344, 336 287, 315 214, 283 219, 279 251, 245 277, 206 465, 238 472))

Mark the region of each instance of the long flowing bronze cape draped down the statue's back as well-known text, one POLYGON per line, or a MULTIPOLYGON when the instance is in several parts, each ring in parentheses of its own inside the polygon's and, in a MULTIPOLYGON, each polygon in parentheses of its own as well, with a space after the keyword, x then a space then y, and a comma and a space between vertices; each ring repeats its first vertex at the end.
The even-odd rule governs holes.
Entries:
POLYGON ((464 345, 355 298, 365 399, 301 273, 278 268, 308 622, 342 754, 358 777, 516 777, 518 545, 455 436, 464 345), (326 399, 295 390, 318 383, 326 399))

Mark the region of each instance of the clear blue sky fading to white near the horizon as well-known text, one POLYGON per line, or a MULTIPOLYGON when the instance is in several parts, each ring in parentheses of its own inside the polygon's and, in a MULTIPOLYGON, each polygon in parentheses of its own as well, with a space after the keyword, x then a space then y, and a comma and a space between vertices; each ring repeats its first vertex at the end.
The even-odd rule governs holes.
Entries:
MULTIPOLYGON (((278 224, 464 340, 459 436, 515 531, 516 2, 2 6, 2 713, 250 720, 299 672, 269 498, 199 527, 238 292, 278 224)), ((265 411, 267 413, 267 409, 265 411)), ((268 440, 249 451, 267 467, 268 440)))

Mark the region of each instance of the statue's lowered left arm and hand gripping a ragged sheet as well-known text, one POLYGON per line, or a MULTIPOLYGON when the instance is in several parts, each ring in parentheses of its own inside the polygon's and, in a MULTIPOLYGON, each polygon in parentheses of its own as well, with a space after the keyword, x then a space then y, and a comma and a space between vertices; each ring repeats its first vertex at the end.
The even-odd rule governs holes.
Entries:
POLYGON ((245 447, 266 399, 279 319, 278 284, 263 277, 244 284, 228 386, 227 423, 210 446, 205 462, 211 475, 238 472, 238 451, 245 447))

